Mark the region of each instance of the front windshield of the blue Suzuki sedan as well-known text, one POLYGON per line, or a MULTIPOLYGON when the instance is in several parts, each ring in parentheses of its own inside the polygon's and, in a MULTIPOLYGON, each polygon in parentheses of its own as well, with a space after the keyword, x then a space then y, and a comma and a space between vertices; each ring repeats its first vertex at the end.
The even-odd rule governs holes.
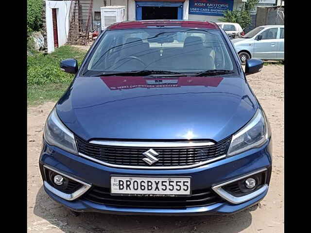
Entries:
POLYGON ((139 70, 200 72, 236 69, 219 30, 149 28, 104 32, 82 75, 139 70))

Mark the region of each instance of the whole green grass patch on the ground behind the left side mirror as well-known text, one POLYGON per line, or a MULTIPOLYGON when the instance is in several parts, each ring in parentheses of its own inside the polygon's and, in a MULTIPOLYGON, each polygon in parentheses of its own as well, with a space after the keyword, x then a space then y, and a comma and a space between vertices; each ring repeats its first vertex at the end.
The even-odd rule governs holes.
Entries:
POLYGON ((74 77, 60 70, 59 62, 67 58, 75 58, 80 66, 86 51, 62 46, 45 56, 41 52, 32 53, 33 56, 27 56, 28 105, 58 100, 74 77))

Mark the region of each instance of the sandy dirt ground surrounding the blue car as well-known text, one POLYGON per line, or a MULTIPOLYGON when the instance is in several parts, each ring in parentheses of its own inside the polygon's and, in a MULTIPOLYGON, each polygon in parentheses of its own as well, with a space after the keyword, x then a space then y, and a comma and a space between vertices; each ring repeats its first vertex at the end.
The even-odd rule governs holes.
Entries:
POLYGON ((281 233, 284 232, 284 67, 264 66, 247 76, 272 128, 273 169, 267 196, 258 208, 233 216, 71 215, 45 193, 38 158, 44 122, 54 102, 29 107, 27 214, 29 233, 281 233))

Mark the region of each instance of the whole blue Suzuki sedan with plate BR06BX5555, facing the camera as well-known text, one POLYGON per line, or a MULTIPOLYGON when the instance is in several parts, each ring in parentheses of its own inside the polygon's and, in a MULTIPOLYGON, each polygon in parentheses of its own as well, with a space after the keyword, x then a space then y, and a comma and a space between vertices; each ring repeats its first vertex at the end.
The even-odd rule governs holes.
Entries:
POLYGON ((116 23, 47 118, 44 189, 74 212, 233 214, 268 192, 272 141, 245 70, 217 24, 116 23))

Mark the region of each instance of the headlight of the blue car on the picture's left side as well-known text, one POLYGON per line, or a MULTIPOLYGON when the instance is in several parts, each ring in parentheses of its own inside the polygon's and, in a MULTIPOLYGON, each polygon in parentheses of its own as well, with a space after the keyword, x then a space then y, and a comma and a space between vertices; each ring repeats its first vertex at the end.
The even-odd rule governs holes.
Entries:
POLYGON ((54 108, 44 126, 44 139, 51 146, 78 154, 73 133, 61 122, 54 108))

